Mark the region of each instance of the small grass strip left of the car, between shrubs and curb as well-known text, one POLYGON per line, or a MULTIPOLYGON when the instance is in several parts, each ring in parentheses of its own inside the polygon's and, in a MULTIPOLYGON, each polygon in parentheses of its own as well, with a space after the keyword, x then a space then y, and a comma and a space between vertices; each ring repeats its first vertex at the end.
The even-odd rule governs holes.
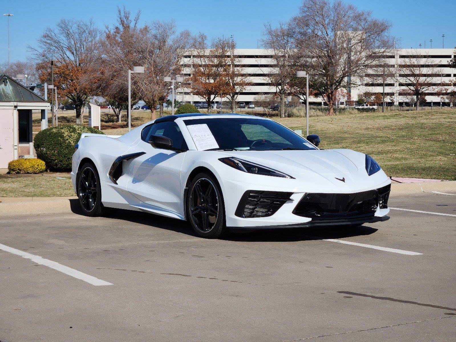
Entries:
POLYGON ((69 173, 0 175, 0 197, 76 196, 69 173), (58 179, 65 178, 65 179, 58 179))

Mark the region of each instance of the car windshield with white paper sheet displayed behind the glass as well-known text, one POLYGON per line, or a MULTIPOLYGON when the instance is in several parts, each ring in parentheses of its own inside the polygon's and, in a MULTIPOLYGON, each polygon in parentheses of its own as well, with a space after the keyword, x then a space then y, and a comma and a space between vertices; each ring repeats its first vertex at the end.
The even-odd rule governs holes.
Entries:
MULTIPOLYGON (((212 145, 198 150, 316 150, 307 140, 286 129, 272 120, 251 118, 213 118, 184 120, 192 135, 195 144, 196 139, 215 139, 212 145), (190 126, 200 125, 206 136, 197 137, 190 126), (202 125, 207 125, 206 127, 202 125), (210 136, 210 134, 213 135, 210 136), (207 136, 209 135, 209 137, 207 136)), ((201 130, 199 130, 201 131, 201 130)))

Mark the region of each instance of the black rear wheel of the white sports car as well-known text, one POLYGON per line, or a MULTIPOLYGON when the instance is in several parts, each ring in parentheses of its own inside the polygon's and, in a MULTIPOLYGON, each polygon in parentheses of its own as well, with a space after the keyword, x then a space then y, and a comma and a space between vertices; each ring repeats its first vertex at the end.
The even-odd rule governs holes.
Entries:
POLYGON ((98 172, 92 163, 85 163, 76 180, 79 204, 87 216, 101 216, 106 211, 101 203, 101 185, 98 172))

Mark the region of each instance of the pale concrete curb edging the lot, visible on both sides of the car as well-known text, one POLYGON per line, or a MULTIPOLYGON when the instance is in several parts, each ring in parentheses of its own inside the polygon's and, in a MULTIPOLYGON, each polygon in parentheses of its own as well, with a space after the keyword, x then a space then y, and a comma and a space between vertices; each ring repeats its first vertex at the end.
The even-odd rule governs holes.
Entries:
MULTIPOLYGON (((393 183, 391 196, 456 192, 456 181, 393 183)), ((0 217, 79 212, 78 197, 0 197, 0 217)))

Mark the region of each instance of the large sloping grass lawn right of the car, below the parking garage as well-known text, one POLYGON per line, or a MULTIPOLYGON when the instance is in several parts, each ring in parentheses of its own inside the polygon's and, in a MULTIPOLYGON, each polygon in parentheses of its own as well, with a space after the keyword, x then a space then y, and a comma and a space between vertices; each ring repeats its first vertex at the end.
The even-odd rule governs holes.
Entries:
MULTIPOLYGON (((306 131, 305 118, 276 119, 306 131)), ((358 113, 310 118, 321 148, 371 155, 388 176, 456 180, 456 110, 358 113)))

